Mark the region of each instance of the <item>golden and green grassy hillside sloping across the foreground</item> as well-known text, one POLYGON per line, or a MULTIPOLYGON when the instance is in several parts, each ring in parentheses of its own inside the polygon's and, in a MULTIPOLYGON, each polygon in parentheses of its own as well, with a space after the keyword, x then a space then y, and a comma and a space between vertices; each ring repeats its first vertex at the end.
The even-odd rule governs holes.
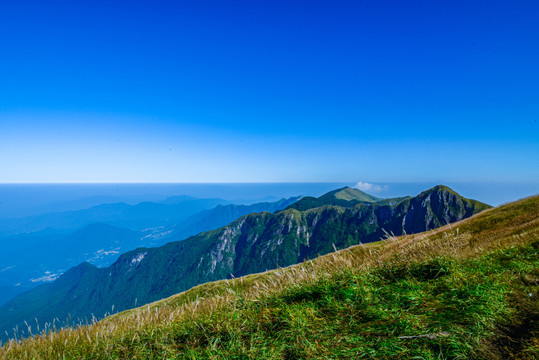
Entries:
POLYGON ((0 358, 537 359, 538 298, 536 196, 92 326, 41 329, 0 358))

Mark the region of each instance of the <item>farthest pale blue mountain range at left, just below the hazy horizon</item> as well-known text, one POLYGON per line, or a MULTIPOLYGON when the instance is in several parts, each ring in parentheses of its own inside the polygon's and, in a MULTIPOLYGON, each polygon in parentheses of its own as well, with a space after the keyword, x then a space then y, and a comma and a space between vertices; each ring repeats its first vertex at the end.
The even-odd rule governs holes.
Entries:
POLYGON ((196 199, 185 197, 171 203, 143 202, 102 204, 84 210, 56 212, 15 219, 0 219, 0 235, 40 231, 45 228, 75 230, 93 223, 106 223, 131 230, 173 225, 194 214, 219 204, 229 204, 222 199, 196 199))

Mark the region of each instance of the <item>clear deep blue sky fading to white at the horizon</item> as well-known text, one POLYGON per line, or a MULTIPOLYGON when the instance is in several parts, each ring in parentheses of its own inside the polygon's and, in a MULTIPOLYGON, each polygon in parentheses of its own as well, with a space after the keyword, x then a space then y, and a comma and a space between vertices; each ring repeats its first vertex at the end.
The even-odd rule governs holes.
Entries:
POLYGON ((0 182, 539 183, 537 1, 0 3, 0 182))

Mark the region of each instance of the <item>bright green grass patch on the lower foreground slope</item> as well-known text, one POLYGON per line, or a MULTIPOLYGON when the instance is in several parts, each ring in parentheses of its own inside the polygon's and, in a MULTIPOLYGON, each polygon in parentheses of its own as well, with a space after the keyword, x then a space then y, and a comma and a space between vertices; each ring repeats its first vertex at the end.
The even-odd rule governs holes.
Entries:
MULTIPOLYGON (((537 306, 525 299, 538 294, 537 284, 523 279, 539 281, 538 248, 535 242, 474 260, 347 269, 256 300, 240 293, 211 314, 125 334, 107 356, 487 359, 518 351, 532 358, 539 356, 533 339, 512 337, 505 342, 517 343, 507 349, 496 343, 503 326, 510 330, 525 316, 519 307, 537 306)), ((528 330, 539 330, 533 326, 528 330)))

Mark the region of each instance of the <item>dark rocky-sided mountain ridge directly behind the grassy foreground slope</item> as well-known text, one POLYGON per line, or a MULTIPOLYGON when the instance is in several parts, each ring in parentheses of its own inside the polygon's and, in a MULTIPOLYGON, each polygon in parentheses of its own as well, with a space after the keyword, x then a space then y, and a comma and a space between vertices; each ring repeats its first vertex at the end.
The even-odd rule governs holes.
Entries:
POLYGON ((83 263, 1 307, 0 332, 27 319, 102 316, 113 306, 121 311, 204 282, 288 266, 335 248, 378 240, 386 232, 399 235, 434 229, 490 207, 444 186, 393 205, 360 202, 355 197, 358 193, 349 190, 343 196, 352 194, 351 200, 338 198, 340 191, 318 201, 358 203, 254 213, 184 241, 128 252, 107 268, 83 263))

